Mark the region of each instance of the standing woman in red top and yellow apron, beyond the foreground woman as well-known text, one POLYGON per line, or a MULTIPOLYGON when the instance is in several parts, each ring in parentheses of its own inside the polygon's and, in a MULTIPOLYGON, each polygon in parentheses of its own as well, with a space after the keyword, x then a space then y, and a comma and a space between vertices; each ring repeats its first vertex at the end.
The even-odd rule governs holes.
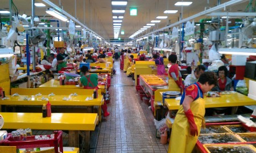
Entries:
POLYGON ((179 65, 176 64, 177 55, 171 54, 168 57, 169 62, 171 63, 171 67, 168 71, 169 74, 169 84, 171 84, 172 88, 180 88, 183 89, 182 77, 179 70, 179 65))

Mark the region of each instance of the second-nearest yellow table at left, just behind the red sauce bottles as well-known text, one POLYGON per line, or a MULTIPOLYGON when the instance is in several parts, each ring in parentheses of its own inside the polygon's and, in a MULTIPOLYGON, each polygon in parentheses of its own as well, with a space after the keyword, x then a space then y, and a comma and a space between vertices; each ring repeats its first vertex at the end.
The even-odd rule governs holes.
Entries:
MULTIPOLYGON (((77 96, 71 96, 71 95, 42 95, 42 96, 26 96, 26 95, 18 95, 18 96, 6 96, 8 99, 6 100, 0 100, 0 105, 37 105, 37 106, 43 106, 43 104, 47 103, 47 99, 42 98, 48 98, 49 102, 52 106, 98 106, 98 116, 100 117, 101 121, 101 105, 104 102, 103 96, 101 94, 98 95, 98 98, 93 98, 92 94, 90 95, 77 95, 77 96), (67 99, 64 100, 64 97, 67 99), (88 97, 92 97, 92 100, 89 100, 88 97)), ((88 107, 89 112, 91 112, 90 108, 88 107)))

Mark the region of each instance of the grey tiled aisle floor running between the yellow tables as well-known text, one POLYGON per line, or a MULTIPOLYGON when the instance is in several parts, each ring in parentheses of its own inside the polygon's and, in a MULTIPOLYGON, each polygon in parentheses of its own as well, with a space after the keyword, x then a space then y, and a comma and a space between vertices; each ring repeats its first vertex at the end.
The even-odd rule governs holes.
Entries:
POLYGON ((119 69, 119 61, 114 69, 110 115, 101 123, 96 152, 167 152, 168 144, 160 144, 155 137, 154 116, 140 100, 135 82, 119 69))

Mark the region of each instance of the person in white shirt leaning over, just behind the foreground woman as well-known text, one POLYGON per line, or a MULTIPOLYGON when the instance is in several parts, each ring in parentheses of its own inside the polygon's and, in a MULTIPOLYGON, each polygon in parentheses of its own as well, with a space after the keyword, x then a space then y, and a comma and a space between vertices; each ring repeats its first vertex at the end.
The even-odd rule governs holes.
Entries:
POLYGON ((185 78, 184 85, 189 86, 189 85, 195 84, 195 82, 197 82, 200 75, 203 74, 204 71, 205 71, 204 65, 198 65, 195 71, 192 71, 191 75, 188 75, 185 78))

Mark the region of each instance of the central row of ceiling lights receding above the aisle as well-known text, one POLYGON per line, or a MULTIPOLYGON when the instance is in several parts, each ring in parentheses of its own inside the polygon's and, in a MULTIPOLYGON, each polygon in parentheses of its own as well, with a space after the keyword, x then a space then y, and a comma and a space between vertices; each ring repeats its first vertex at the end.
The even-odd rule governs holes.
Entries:
POLYGON ((125 13, 125 8, 127 5, 127 1, 112 1, 112 14, 113 14, 113 31, 114 31, 114 38, 117 39, 121 26, 122 26, 122 19, 123 14, 125 13))

